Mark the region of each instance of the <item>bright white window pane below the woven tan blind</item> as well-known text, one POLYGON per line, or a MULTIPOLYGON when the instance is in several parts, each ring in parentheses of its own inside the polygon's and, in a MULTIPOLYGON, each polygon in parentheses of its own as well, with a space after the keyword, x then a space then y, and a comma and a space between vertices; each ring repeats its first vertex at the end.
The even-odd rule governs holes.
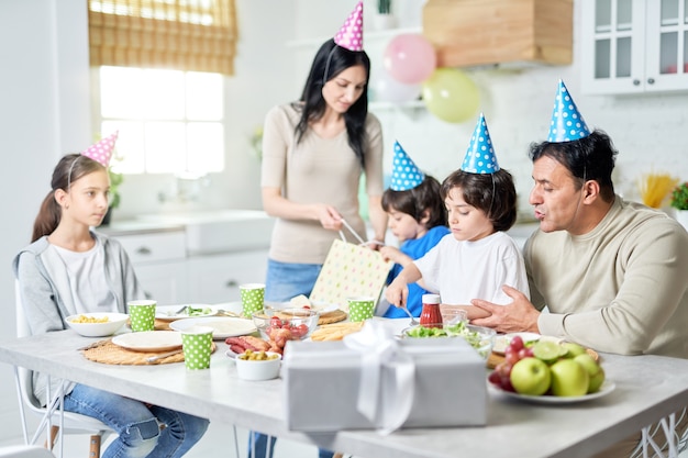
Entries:
POLYGON ((123 174, 202 176, 224 169, 223 76, 102 66, 93 75, 102 136, 119 131, 123 174))

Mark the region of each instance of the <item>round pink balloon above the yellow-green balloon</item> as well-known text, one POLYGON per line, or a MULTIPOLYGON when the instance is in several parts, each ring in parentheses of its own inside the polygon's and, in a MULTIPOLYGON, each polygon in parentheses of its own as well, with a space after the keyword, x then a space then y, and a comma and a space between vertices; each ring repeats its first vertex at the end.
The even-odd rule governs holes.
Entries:
POLYGON ((382 63, 397 81, 419 85, 435 70, 437 56, 435 48, 423 35, 406 33, 391 38, 382 63))

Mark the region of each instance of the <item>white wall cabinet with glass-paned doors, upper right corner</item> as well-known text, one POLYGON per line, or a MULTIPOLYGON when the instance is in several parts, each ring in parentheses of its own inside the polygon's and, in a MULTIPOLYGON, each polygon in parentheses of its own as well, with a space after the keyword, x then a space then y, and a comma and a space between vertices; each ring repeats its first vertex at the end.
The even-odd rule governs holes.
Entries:
POLYGON ((584 92, 688 90, 688 0, 581 3, 584 92))

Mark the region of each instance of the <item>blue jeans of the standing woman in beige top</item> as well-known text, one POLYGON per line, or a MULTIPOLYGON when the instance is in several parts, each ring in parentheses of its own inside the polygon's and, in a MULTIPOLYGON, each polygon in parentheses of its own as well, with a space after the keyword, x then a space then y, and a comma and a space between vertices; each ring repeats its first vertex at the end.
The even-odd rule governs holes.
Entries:
MULTIPOLYGON (((265 300, 287 302, 299 294, 310 295, 321 269, 320 264, 290 264, 268 259, 265 300)), ((276 438, 270 437, 269 454, 267 438, 263 433, 249 433, 248 458, 273 458, 276 438)), ((324 449, 319 449, 318 454, 319 458, 332 458, 333 455, 324 449)))

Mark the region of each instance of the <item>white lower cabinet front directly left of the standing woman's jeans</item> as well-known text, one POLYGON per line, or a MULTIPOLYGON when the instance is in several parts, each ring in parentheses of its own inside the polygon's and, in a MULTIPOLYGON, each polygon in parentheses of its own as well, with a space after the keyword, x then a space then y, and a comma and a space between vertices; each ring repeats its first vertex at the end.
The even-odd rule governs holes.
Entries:
POLYGON ((189 301, 220 303, 241 300, 240 284, 265 282, 267 254, 267 249, 257 249, 189 258, 189 301))

